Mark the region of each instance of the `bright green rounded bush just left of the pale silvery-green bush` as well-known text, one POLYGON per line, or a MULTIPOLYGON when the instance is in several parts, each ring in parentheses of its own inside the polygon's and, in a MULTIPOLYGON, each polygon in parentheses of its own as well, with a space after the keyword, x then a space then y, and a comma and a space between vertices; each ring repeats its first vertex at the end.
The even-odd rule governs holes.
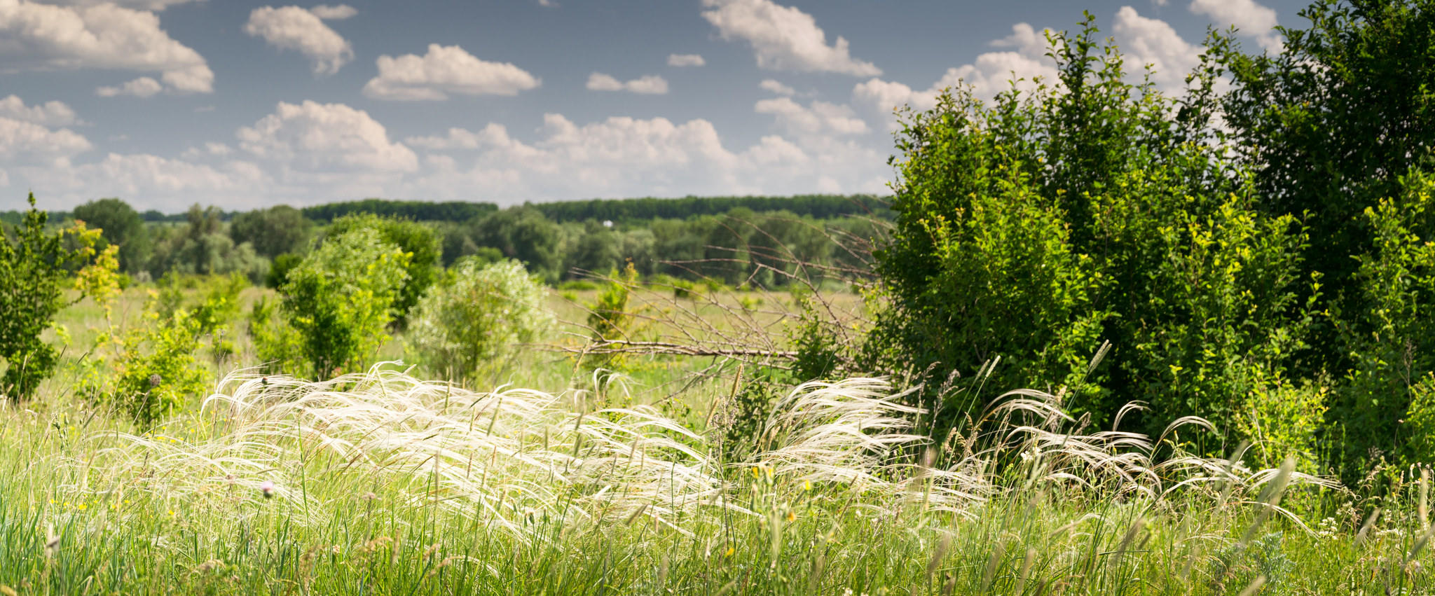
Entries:
POLYGON ((409 254, 373 228, 330 236, 288 272, 281 304, 257 304, 251 335, 260 357, 286 372, 330 378, 364 365, 387 340, 409 254))

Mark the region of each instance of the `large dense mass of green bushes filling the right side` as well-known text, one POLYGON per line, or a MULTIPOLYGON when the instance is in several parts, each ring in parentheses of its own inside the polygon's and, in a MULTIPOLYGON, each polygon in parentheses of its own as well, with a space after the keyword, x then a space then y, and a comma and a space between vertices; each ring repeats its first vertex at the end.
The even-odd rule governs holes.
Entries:
MULTIPOLYGON (((959 426, 994 390, 1035 387, 1063 391, 1093 424, 1109 424, 1131 401, 1157 411, 1145 431, 1201 415, 1221 431, 1205 448, 1256 440, 1251 457, 1267 464, 1297 454, 1306 467, 1350 473, 1380 457, 1429 461, 1435 186, 1409 158, 1428 149, 1406 146, 1383 169, 1369 163, 1380 152, 1349 166, 1350 176, 1391 183, 1330 188, 1297 176, 1299 186, 1273 189, 1270 176, 1343 165, 1322 165, 1329 156, 1300 145, 1309 139, 1271 130, 1350 123, 1326 122, 1337 119, 1329 112, 1279 119, 1271 115, 1302 107, 1248 97, 1254 86, 1294 79, 1358 87, 1352 80, 1379 72, 1370 64, 1386 64, 1360 52, 1426 47, 1368 34, 1435 39, 1425 27, 1432 6, 1352 16, 1322 1, 1309 9, 1327 17, 1317 30, 1292 33, 1289 56, 1254 63, 1347 67, 1340 80, 1261 72, 1215 36, 1180 97, 1129 83, 1121 53, 1096 40, 1088 19, 1081 33, 1050 40, 1058 80, 992 103, 959 87, 931 110, 905 112, 893 160, 895 231, 877 255, 890 307, 864 347, 865 365, 927 381, 914 395, 938 411, 937 430, 959 426), (1217 93, 1231 67, 1244 69, 1236 89, 1217 93), (1303 162, 1276 172, 1260 146, 1231 139, 1266 139, 1303 162), (1330 193, 1355 215, 1323 212, 1330 193), (1112 350, 1091 368, 1104 342, 1112 350)), ((1422 60, 1412 64, 1435 72, 1435 60, 1422 60)), ((1391 93, 1380 113, 1435 125, 1428 110, 1392 115, 1411 102, 1391 93)), ((1335 95, 1264 96, 1314 109, 1335 95)))

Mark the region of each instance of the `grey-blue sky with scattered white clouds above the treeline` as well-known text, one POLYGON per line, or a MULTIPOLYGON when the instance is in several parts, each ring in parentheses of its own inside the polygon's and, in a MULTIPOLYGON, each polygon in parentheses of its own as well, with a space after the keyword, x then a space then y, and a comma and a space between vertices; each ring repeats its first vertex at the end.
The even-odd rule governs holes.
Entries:
POLYGON ((893 109, 1055 76, 1095 16, 1168 92, 1287 0, 0 0, 0 211, 883 193, 893 109))

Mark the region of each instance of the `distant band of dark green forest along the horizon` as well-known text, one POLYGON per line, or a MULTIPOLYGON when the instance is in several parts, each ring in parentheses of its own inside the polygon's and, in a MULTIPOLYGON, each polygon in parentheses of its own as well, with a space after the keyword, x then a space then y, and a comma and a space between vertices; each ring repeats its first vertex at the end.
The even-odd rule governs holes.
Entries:
MULTIPOLYGON (((433 255, 435 266, 509 258, 557 284, 631 262, 644 277, 781 287, 799 262, 818 265, 805 268, 809 278, 821 278, 824 268, 860 265, 893 213, 887 198, 872 195, 593 199, 509 208, 363 199, 244 212, 194 205, 184 213, 138 212, 121 199, 98 199, 50 212, 50 222, 82 219, 102 228, 105 241, 121 246, 121 268, 138 279, 241 272, 274 285, 336 222, 370 216, 403 228, 406 248, 433 255)), ((20 211, 0 212, 9 225, 23 218, 20 211)))

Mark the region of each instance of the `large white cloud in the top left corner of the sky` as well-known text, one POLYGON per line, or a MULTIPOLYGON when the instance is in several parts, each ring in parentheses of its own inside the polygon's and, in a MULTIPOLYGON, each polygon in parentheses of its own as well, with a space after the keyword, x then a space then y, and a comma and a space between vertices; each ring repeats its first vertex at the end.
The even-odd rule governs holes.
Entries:
POLYGON ((214 90, 204 57, 159 29, 155 13, 115 4, 0 0, 0 60, 9 69, 152 72, 174 92, 214 90))

